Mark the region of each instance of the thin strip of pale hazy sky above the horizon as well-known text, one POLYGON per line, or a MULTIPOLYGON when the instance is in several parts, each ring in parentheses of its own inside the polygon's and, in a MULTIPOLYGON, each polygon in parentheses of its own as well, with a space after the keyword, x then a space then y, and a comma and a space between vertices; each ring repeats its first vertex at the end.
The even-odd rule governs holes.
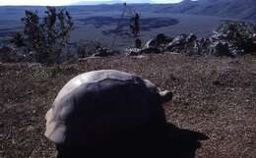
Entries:
MULTIPOLYGON (((76 2, 107 2, 111 0, 0 0, 0 5, 52 5, 52 6, 58 6, 58 5, 69 5, 76 2)), ((120 1, 127 1, 129 0, 120 0, 120 1)), ((138 0, 139 2, 140 0, 138 0)), ((143 0, 145 2, 145 0, 143 0)), ((149 0, 150 1, 150 0, 149 0)), ((180 2, 182 0, 151 0, 155 3, 176 3, 180 2)), ((136 1, 137 2, 137 1, 136 1)))

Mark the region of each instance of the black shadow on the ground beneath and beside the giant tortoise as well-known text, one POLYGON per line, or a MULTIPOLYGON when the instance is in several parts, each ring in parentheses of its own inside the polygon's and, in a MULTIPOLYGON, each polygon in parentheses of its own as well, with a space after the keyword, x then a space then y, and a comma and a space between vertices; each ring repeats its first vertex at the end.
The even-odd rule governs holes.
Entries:
POLYGON ((201 147, 200 141, 209 138, 202 132, 179 129, 171 124, 167 124, 166 129, 166 134, 155 132, 150 134, 151 137, 146 134, 140 140, 135 135, 122 135, 122 138, 117 136, 116 140, 96 146, 57 146, 58 158, 194 158, 196 150, 201 147))

